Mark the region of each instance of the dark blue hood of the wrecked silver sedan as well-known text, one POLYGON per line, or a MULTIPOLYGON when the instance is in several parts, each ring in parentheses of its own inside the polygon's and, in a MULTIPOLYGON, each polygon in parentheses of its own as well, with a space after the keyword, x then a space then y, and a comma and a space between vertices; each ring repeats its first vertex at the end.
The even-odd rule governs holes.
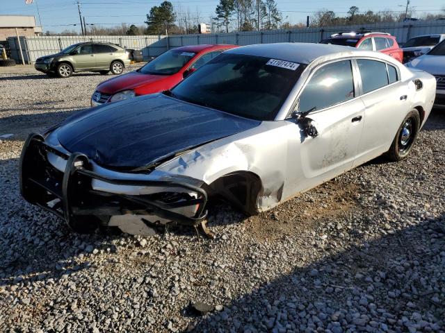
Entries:
POLYGON ((154 94, 80 112, 56 133, 72 153, 105 167, 136 169, 259 123, 154 94))

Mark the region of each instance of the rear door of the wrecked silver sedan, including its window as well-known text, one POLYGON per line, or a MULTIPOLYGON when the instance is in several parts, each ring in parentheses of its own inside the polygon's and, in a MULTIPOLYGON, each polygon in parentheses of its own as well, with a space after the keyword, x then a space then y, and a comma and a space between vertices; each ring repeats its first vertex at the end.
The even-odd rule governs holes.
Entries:
POLYGON ((362 139, 355 165, 385 153, 407 114, 408 86, 394 65, 373 59, 357 59, 365 105, 362 139))

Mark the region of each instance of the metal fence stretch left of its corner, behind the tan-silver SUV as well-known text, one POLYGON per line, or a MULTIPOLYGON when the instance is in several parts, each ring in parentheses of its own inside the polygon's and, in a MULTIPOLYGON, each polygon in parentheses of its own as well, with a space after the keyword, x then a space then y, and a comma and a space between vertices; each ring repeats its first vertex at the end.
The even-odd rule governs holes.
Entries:
MULTIPOLYGON (((143 51, 144 58, 159 56, 167 49, 165 36, 38 36, 20 37, 24 62, 32 64, 37 58, 58 53, 65 47, 81 42, 108 42, 143 51)), ((11 58, 22 61, 17 37, 8 37, 11 58)))

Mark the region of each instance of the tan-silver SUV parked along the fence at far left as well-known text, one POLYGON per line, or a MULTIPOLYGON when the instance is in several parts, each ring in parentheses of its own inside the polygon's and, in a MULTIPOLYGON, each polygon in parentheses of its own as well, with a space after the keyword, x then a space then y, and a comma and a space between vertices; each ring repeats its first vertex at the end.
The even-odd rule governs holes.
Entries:
POLYGON ((111 43, 88 42, 68 46, 60 53, 35 60, 35 69, 48 76, 67 78, 75 71, 121 74, 130 64, 129 52, 111 43))

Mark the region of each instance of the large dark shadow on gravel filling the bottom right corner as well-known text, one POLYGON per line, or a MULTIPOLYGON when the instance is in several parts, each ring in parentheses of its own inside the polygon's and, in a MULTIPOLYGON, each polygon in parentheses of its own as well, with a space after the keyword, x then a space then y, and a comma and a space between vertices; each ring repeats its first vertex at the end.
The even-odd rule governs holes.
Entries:
MULTIPOLYGON (((423 219, 396 232, 380 232, 382 237, 371 241, 355 240, 351 233, 348 243, 354 246, 325 251, 309 264, 296 258, 290 273, 270 282, 248 278, 244 283, 253 285, 251 291, 220 303, 223 311, 200 317, 186 306, 183 315, 195 317, 189 326, 193 332, 303 332, 307 327, 310 332, 382 332, 393 323, 407 331, 403 323, 419 313, 433 318, 436 330, 445 325, 445 285, 435 280, 445 274, 438 258, 445 245, 444 221, 444 214, 423 219), (433 236, 425 239, 426 234, 433 236), (371 317, 384 324, 370 322, 371 317)), ((269 268, 246 262, 242 269, 246 277, 261 277, 269 268)), ((216 305, 204 296, 196 301, 216 305)))

